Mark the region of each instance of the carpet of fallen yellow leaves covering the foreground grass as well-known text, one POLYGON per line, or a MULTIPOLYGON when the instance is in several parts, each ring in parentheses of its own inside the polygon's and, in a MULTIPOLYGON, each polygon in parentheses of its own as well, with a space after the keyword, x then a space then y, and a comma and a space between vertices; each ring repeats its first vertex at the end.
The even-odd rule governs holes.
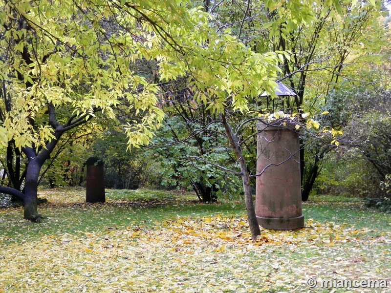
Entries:
POLYGON ((308 219, 253 242, 245 217, 217 214, 2 240, 0 292, 308 292, 309 277, 391 281, 391 232, 368 231, 308 219))

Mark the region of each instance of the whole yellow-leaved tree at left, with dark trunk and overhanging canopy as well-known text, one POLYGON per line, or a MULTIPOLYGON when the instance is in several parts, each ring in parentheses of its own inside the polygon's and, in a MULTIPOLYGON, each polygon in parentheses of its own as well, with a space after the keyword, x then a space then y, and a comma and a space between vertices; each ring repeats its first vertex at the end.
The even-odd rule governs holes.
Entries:
POLYGON ((131 113, 130 146, 147 143, 164 116, 159 83, 186 78, 211 111, 245 110, 248 96, 272 89, 278 57, 257 54, 209 25, 184 1, 2 1, 1 142, 27 159, 25 218, 36 219, 41 167, 65 131, 95 116, 131 113), (151 61, 150 72, 139 72, 151 61))

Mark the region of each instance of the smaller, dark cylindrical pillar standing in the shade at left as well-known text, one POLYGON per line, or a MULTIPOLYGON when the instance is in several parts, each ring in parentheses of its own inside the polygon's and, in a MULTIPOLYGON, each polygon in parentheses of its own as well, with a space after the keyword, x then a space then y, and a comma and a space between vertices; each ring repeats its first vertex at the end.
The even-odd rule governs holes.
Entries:
POLYGON ((87 160, 86 202, 106 202, 105 173, 103 161, 100 158, 93 157, 87 160))

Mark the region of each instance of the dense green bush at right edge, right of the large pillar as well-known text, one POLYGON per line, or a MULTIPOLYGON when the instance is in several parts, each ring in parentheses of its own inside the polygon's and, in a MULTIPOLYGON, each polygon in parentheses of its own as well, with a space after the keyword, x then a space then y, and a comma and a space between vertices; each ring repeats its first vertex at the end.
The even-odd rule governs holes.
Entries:
POLYGON ((342 125, 340 147, 329 156, 317 179, 320 192, 366 198, 387 196, 391 173, 391 90, 350 87, 332 92, 332 125, 342 125), (342 110, 341 110, 342 109, 342 110))

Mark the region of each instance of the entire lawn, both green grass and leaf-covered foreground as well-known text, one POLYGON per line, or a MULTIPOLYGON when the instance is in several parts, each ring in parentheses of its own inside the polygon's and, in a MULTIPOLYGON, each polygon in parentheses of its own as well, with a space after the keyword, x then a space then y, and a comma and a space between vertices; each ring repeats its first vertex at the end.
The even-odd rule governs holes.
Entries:
POLYGON ((107 190, 105 204, 84 203, 84 189, 40 197, 40 224, 0 209, 0 293, 331 292, 322 281, 356 279, 388 288, 334 292, 391 292, 391 214, 359 199, 312 197, 304 229, 253 242, 241 203, 156 190, 107 190))

